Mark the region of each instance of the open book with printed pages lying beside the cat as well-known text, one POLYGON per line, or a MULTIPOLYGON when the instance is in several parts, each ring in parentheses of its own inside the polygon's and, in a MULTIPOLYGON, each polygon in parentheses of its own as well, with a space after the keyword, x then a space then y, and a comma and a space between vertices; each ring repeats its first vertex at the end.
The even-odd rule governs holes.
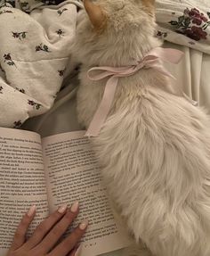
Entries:
MULTIPOLYGON (((109 206, 100 169, 84 131, 41 137, 0 128, 0 255, 5 256, 22 215, 36 205, 36 225, 63 203, 78 201, 77 223, 89 220, 81 256, 129 244, 109 206)), ((77 225, 75 223, 75 225, 77 225)))

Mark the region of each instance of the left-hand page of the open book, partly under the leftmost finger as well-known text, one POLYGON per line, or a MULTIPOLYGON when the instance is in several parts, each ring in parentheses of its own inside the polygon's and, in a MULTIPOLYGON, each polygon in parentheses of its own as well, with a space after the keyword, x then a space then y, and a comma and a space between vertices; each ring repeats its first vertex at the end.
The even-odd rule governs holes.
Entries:
MULTIPOLYGON (((0 255, 6 255, 20 219, 36 205, 31 231, 48 214, 41 138, 0 128, 0 255)), ((31 233, 31 231, 29 233, 31 233)))

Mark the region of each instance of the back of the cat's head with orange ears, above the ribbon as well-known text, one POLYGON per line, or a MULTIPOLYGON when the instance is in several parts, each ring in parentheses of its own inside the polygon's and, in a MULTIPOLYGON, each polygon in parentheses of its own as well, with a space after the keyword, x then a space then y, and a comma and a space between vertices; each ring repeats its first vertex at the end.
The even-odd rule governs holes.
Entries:
POLYGON ((84 5, 77 27, 78 56, 94 64, 122 65, 152 47, 155 0, 84 0, 84 5))

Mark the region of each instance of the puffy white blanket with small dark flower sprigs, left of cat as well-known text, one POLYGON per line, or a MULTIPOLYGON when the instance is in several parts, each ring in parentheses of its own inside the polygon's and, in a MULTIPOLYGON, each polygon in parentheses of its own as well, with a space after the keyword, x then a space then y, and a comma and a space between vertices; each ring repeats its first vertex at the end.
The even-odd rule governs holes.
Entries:
MULTIPOLYGON (((52 107, 75 36, 77 0, 0 6, 0 126, 19 128, 52 107)), ((25 3, 25 4, 24 4, 25 3)))

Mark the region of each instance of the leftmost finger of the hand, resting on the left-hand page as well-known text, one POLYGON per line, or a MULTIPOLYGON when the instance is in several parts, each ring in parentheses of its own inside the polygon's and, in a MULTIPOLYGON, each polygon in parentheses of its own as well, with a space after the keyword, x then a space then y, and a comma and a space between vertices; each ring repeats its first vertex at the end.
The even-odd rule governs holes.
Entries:
POLYGON ((28 212, 20 221, 20 225, 15 232, 14 239, 12 242, 12 247, 11 247, 12 250, 19 249, 20 246, 22 246, 22 244, 25 243, 28 227, 32 222, 32 220, 34 219, 35 215, 36 215, 36 206, 33 205, 30 207, 28 212))

